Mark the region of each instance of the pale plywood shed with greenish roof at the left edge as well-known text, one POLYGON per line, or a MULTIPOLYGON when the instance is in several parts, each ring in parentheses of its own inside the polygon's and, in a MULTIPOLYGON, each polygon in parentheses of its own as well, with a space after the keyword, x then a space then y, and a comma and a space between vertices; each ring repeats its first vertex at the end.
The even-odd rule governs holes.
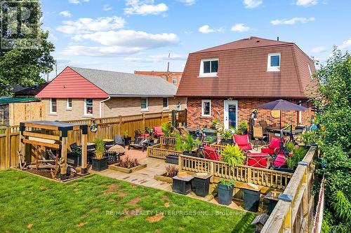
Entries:
POLYGON ((20 125, 27 120, 45 120, 44 104, 37 98, 0 98, 0 125, 20 125))

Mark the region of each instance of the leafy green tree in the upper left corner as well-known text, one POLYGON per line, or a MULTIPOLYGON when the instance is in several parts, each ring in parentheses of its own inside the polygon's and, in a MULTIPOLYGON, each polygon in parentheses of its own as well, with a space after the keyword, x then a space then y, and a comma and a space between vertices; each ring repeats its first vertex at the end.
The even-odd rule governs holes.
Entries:
POLYGON ((53 70, 55 60, 51 52, 55 47, 48 41, 48 31, 41 29, 39 1, 1 1, 0 4, 5 15, 0 18, 0 95, 11 95, 11 85, 45 83, 40 74, 53 70), (22 17, 26 10, 28 17, 22 17), (21 15, 18 21, 11 17, 16 14, 21 15))

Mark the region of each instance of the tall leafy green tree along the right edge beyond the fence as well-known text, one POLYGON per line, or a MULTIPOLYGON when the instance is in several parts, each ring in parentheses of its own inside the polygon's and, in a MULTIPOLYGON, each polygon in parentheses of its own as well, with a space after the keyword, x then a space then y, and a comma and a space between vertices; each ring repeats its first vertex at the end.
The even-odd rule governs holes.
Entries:
POLYGON ((326 195, 324 232, 351 228, 351 56, 334 48, 333 56, 315 73, 322 109, 320 150, 326 195))

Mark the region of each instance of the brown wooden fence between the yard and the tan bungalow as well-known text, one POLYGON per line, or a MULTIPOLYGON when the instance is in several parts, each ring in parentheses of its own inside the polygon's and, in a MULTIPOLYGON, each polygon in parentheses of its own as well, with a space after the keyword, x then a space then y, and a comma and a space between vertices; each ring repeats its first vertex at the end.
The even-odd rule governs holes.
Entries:
MULTIPOLYGON (((186 110, 178 111, 178 113, 186 115, 186 110)), ((178 118, 177 122, 185 119, 178 118)), ((135 129, 143 130, 145 127, 152 128, 161 125, 162 122, 171 121, 171 112, 117 116, 114 118, 70 120, 68 122, 90 126, 94 121, 98 125, 98 131, 91 132, 88 130, 88 142, 92 142, 96 138, 113 139, 115 135, 122 135, 126 131, 128 131, 128 136, 133 137, 135 129)), ((18 165, 19 132, 20 128, 18 126, 0 127, 0 169, 18 165)), ((68 144, 74 142, 79 144, 81 142, 81 134, 78 131, 68 133, 68 144)), ((38 150, 38 148, 27 145, 25 149, 26 158, 29 159, 29 154, 35 150, 38 150)))

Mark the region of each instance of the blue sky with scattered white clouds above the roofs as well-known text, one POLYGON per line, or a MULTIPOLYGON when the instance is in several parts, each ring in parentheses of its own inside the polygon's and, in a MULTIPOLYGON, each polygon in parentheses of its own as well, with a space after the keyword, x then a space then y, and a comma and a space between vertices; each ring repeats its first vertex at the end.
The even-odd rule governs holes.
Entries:
MULTIPOLYGON (((58 73, 66 66, 183 71, 190 52, 258 36, 325 62, 351 48, 350 0, 41 0, 58 73), (168 54, 171 54, 168 58, 168 54)), ((55 77, 55 71, 49 79, 55 77)))

